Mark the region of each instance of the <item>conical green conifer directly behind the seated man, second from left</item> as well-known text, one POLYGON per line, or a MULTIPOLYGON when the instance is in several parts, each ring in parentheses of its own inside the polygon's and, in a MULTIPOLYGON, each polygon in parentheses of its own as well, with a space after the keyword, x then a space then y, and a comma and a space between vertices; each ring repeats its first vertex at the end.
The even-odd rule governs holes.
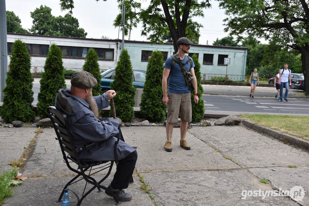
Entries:
POLYGON ((48 117, 47 107, 55 104, 58 90, 66 88, 62 52, 56 44, 52 44, 44 65, 44 73, 40 80, 37 112, 43 119, 48 117))

